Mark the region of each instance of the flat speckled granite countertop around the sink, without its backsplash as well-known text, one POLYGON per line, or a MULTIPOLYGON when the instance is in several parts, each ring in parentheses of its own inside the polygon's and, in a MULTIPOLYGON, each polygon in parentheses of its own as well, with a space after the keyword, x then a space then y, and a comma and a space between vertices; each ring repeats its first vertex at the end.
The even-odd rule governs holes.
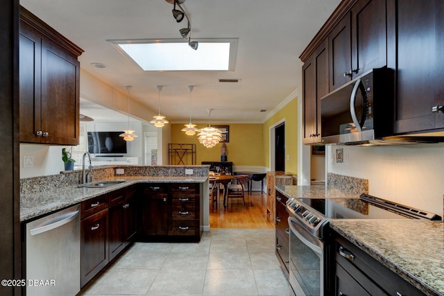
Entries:
MULTIPOLYGON (((63 209, 89 198, 94 198, 111 191, 125 188, 137 183, 203 183, 208 177, 111 177, 106 180, 124 180, 126 182, 101 188, 86 188, 63 186, 53 190, 45 190, 40 193, 27 193, 20 195, 20 221, 26 221, 44 214, 49 214, 58 209, 63 209)), ((100 182, 104 180, 96 180, 100 182)), ((93 182, 93 183, 94 183, 93 182)))

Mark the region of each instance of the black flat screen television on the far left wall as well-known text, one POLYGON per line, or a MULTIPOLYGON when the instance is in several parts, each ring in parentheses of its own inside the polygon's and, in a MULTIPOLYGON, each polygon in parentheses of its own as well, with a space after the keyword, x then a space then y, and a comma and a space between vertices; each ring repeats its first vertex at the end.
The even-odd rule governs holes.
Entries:
POLYGON ((123 137, 119 137, 121 133, 88 132, 88 152, 106 155, 125 154, 126 141, 123 137))

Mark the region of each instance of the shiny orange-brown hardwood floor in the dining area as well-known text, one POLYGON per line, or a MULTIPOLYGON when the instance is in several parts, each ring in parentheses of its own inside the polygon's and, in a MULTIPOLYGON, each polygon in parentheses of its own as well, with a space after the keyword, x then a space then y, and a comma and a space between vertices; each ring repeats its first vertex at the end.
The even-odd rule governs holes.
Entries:
POLYGON ((265 193, 246 193, 245 205, 241 198, 230 198, 224 209, 221 192, 217 208, 210 200, 210 228, 275 228, 274 223, 266 219, 265 193))

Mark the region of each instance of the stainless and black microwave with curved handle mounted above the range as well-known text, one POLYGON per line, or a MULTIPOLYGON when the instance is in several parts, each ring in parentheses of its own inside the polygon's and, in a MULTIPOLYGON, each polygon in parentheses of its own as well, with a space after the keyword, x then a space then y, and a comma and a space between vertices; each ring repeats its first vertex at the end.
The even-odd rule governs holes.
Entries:
POLYGON ((393 135, 393 70, 372 69, 321 98, 322 143, 359 144, 393 135))

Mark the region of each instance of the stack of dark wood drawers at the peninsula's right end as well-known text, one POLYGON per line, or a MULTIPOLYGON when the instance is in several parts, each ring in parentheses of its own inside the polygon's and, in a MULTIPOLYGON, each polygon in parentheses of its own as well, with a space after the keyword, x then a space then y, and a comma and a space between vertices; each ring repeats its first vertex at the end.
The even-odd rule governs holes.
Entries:
POLYGON ((199 184, 169 184, 169 194, 169 236, 199 241, 203 231, 199 184))

